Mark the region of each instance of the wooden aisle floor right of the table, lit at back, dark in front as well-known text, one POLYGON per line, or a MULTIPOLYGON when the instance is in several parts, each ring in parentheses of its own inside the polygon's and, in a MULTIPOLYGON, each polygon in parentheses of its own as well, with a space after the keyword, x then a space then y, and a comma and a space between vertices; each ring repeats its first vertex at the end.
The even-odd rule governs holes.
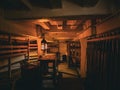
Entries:
POLYGON ((82 80, 76 70, 76 68, 69 68, 67 63, 60 63, 58 65, 58 71, 61 73, 59 83, 56 87, 52 87, 50 83, 44 90, 84 90, 82 80))

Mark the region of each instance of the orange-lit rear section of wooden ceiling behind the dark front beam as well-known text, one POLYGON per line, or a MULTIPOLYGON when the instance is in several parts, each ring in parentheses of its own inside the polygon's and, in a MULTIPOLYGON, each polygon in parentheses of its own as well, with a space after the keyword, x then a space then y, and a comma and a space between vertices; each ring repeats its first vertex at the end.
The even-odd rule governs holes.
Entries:
MULTIPOLYGON (((45 34, 47 40, 72 40, 87 26, 85 23, 91 25, 91 20, 102 19, 105 15, 100 16, 84 16, 82 19, 79 17, 56 17, 56 18, 42 18, 42 19, 25 19, 25 20, 12 20, 14 23, 29 27, 36 28, 38 36, 41 33, 45 34)), ((29 29, 30 30, 30 29, 29 29)))

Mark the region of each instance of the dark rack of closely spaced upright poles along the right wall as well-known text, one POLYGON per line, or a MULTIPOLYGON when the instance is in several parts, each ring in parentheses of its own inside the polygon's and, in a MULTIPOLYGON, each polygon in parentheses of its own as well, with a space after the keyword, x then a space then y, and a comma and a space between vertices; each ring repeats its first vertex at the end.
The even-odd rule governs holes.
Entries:
POLYGON ((120 29, 88 37, 86 81, 92 90, 120 90, 120 29))

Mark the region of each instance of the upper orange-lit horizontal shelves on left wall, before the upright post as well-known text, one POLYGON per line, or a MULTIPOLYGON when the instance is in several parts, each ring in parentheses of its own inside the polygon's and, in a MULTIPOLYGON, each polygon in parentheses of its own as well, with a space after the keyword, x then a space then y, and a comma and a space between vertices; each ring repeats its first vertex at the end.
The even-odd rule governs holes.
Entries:
POLYGON ((9 34, 0 35, 0 58, 11 58, 27 54, 27 40, 25 37, 14 37, 9 34), (24 38, 24 39, 22 39, 24 38))

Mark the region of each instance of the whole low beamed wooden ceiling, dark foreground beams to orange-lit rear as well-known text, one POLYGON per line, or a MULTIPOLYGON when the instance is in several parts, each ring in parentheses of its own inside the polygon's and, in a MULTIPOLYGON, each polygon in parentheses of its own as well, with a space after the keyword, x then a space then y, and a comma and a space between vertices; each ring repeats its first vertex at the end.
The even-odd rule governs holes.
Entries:
POLYGON ((73 39, 86 22, 111 13, 104 0, 0 0, 0 8, 6 19, 26 27, 39 26, 48 39, 57 40, 73 39))

